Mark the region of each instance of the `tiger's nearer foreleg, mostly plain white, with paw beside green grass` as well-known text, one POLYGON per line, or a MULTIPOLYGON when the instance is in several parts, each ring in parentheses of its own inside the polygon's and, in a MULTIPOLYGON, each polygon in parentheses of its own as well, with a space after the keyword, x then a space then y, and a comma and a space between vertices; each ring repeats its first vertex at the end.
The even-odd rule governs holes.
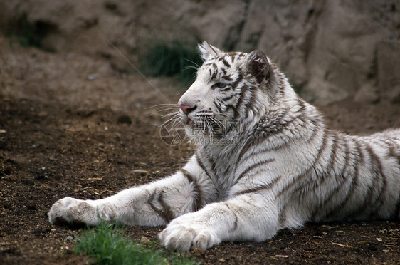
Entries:
POLYGON ((208 249, 221 241, 264 241, 278 231, 277 212, 272 199, 243 194, 174 219, 159 239, 181 251, 208 249))

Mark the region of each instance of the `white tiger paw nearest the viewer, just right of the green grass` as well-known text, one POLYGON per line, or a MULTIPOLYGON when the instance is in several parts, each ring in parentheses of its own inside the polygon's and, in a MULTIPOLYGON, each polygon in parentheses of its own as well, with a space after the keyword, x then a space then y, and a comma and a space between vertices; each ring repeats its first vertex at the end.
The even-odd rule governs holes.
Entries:
POLYGON ((172 221, 159 234, 159 239, 167 249, 178 251, 190 251, 196 248, 206 250, 221 242, 212 229, 200 224, 191 224, 186 219, 179 222, 179 218, 172 221))

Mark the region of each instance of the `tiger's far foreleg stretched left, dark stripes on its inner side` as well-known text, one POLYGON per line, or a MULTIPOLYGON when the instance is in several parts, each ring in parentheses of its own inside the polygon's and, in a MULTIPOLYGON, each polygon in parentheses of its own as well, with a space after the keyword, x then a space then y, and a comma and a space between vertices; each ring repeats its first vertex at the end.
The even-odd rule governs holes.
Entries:
POLYGON ((184 168, 170 177, 125 189, 105 199, 59 199, 48 212, 48 219, 52 224, 96 225, 101 219, 128 225, 167 224, 216 199, 214 185, 198 165, 189 162, 184 168))

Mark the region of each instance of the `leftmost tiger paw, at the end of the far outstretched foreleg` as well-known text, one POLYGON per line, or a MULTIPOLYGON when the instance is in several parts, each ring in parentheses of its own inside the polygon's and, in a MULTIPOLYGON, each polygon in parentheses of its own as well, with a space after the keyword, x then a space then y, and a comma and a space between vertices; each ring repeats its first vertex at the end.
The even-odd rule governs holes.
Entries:
POLYGON ((81 199, 73 199, 65 197, 59 199, 48 212, 48 220, 51 224, 90 224, 88 218, 90 216, 96 217, 96 209, 81 199))

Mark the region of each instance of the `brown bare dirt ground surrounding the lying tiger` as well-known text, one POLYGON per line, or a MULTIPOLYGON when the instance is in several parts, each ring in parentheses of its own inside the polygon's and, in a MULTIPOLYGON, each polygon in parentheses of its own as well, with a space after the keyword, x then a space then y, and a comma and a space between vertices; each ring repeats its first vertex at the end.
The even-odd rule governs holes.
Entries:
MULTIPOLYGON (((123 60, 123 58, 121 58, 123 60)), ((106 58, 46 53, 0 37, 0 264, 85 264, 73 233, 46 213, 65 196, 98 199, 179 169, 194 147, 159 137, 157 108, 184 89, 113 70, 106 58)), ((400 127, 400 106, 321 107, 347 133, 400 127)), ((156 239, 162 227, 130 227, 156 239)), ((400 264, 400 223, 307 224, 263 243, 192 252, 204 264, 400 264)))

